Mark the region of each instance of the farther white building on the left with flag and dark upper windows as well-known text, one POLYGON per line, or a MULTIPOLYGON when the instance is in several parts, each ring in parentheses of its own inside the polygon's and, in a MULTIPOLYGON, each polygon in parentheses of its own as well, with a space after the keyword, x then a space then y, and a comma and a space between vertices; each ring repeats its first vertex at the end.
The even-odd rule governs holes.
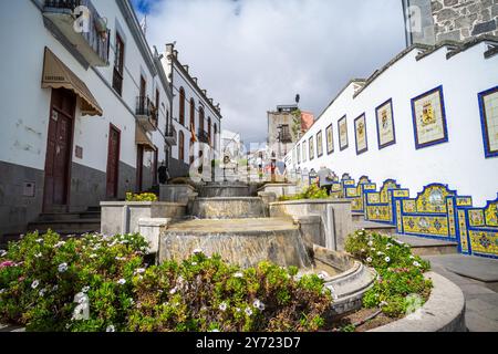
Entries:
POLYGON ((177 136, 169 149, 169 175, 184 177, 190 164, 200 157, 199 144, 209 145, 215 157, 219 154, 221 110, 200 88, 188 65, 179 62, 174 44, 166 44, 162 63, 173 91, 172 134, 177 136))

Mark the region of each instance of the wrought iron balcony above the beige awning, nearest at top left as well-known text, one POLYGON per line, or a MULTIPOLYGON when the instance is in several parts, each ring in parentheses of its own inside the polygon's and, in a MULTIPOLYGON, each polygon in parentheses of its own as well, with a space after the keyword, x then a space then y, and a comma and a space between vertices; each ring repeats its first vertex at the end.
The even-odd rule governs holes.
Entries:
POLYGON ((90 65, 108 65, 111 31, 106 20, 98 14, 90 0, 45 0, 43 17, 61 31, 90 65), (87 9, 87 12, 79 12, 79 9, 87 9))

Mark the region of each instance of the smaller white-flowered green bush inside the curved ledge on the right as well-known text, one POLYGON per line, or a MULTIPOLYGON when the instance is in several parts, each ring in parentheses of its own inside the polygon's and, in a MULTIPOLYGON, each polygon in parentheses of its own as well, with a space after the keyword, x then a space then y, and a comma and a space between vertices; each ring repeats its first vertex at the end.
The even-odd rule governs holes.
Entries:
POLYGON ((366 308, 380 306, 386 315, 398 317, 406 314, 412 303, 408 295, 428 299, 432 281, 424 278, 424 272, 430 266, 413 256, 408 244, 390 236, 359 230, 347 238, 345 249, 377 271, 374 287, 363 298, 366 308))

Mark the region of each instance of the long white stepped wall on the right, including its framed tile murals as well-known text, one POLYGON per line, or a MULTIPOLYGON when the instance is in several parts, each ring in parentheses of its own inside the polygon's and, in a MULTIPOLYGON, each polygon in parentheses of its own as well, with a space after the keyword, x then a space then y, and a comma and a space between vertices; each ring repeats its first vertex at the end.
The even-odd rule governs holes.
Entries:
POLYGON ((475 206, 494 200, 497 48, 498 39, 488 37, 406 49, 332 100, 289 153, 291 166, 301 171, 326 166, 356 180, 366 175, 377 186, 394 178, 412 194, 442 183, 473 196, 475 206))

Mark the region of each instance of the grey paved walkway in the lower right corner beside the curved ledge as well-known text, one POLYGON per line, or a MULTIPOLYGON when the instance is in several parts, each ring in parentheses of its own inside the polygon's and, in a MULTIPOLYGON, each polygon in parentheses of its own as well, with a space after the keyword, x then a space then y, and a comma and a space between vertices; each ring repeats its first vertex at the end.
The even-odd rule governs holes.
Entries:
POLYGON ((498 260, 461 254, 426 256, 433 270, 464 292, 470 332, 498 332, 498 260))

